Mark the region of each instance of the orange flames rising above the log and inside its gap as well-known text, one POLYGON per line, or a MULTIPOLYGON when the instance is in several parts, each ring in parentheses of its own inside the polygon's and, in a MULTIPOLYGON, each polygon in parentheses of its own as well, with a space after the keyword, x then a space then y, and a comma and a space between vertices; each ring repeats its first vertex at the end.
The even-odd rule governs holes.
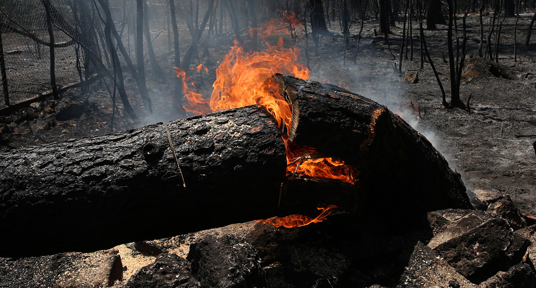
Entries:
MULTIPOLYGON (((266 48, 262 51, 250 52, 234 41, 234 46, 216 69, 216 80, 210 99, 195 93, 194 87, 189 88, 188 78, 184 71, 175 68, 177 77, 183 81, 183 93, 187 104, 184 109, 194 114, 204 114, 220 109, 238 108, 257 104, 264 106, 276 119, 279 127, 291 125, 292 112, 288 102, 277 92, 277 83, 267 82, 275 73, 292 75, 309 79, 309 69, 299 63, 300 48, 288 46, 280 35, 295 38, 295 29, 302 24, 294 13, 283 12, 280 19, 272 19, 262 28, 256 28, 266 48), (276 43, 271 39, 278 36, 276 43)), ((252 31, 250 31, 252 33, 252 31)), ((203 69, 202 65, 197 71, 203 69)), ((204 67, 207 71, 206 67, 204 67)), ((287 145, 288 146, 288 145, 287 145)), ((311 177, 340 179, 355 183, 352 169, 341 160, 332 158, 316 158, 311 154, 290 151, 287 147, 287 172, 299 173, 311 177)))

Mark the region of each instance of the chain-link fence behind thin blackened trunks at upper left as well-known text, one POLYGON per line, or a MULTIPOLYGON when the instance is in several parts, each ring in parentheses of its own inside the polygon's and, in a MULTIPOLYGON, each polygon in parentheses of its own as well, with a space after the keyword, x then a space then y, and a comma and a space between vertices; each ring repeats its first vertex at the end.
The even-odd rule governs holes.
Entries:
MULTIPOLYGON (((0 1, 0 29, 5 74, 11 104, 51 92, 51 51, 47 17, 54 38, 55 80, 58 88, 91 78, 101 62, 111 69, 105 37, 108 4, 117 32, 128 53, 134 53, 136 2, 124 0, 3 0, 0 1), (46 2, 50 2, 47 16, 46 2)), ((165 0, 147 1, 149 25, 163 29, 167 19, 165 0)), ((169 27, 167 27, 169 28, 169 27)), ((122 58, 122 61, 124 58, 122 58)), ((5 87, 3 85, 2 87, 5 87)), ((4 94, 4 88, 2 88, 4 94)), ((5 102, 1 101, 0 107, 5 102)))

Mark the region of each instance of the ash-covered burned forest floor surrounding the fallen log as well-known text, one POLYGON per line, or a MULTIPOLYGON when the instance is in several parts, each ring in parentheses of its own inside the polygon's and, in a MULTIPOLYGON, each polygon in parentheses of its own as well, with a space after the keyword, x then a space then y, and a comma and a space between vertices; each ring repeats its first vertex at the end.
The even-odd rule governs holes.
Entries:
MULTIPOLYGON (((392 31, 389 34, 389 43, 379 34, 379 26, 376 20, 364 21, 359 45, 356 41, 356 35, 358 35, 361 25, 359 21, 352 23, 350 29, 351 35, 346 47, 344 36, 341 35, 338 23, 331 23, 331 26, 329 26, 330 33, 321 36, 318 47, 315 47, 310 35, 306 37, 303 30, 298 30, 299 38, 291 39, 291 42, 294 42, 296 46, 301 48, 300 62, 310 68, 311 80, 344 87, 351 92, 361 94, 364 97, 385 105, 427 137, 436 149, 443 154, 446 160, 448 160, 451 169, 460 173, 461 179, 464 181, 468 190, 474 191, 478 195, 484 195, 488 192, 497 195, 508 194, 520 212, 525 216, 530 216, 536 215, 536 146, 533 146, 533 143, 536 141, 536 106, 534 104, 536 100, 536 39, 533 38, 528 46, 523 45, 523 43, 531 17, 532 13, 521 14, 519 17, 516 46, 517 61, 515 61, 514 57, 514 39, 516 37, 514 27, 516 18, 505 18, 501 30, 500 45, 498 45, 498 62, 495 62, 478 57, 478 46, 480 42, 478 14, 467 16, 467 59, 460 85, 461 100, 468 106, 466 109, 445 108, 442 105, 441 90, 437 84, 434 72, 430 68, 430 63, 425 60, 421 69, 418 38, 419 24, 416 21, 412 23, 414 28, 413 55, 409 47, 407 58, 405 57, 406 51, 404 51, 401 73, 398 72, 400 39, 403 26, 401 21, 392 27, 392 31), (413 60, 410 60, 411 58, 413 60)), ((490 16, 486 16, 484 20, 486 41, 488 33, 487 23, 490 21, 490 16)), ((461 26, 461 15, 459 16, 458 24, 461 26)), ((161 55, 158 60, 165 71, 167 71, 167 79, 156 79, 151 69, 148 68, 147 87, 152 99, 153 113, 148 113, 147 107, 144 106, 140 99, 135 80, 125 73, 126 89, 131 104, 139 117, 137 120, 133 121, 130 119, 124 112, 123 105, 118 98, 116 99, 116 108, 114 109, 107 87, 102 82, 97 81, 95 84, 90 85, 86 92, 82 92, 80 88, 71 88, 62 94, 61 100, 53 100, 49 97, 43 101, 33 102, 28 107, 21 108, 17 111, 8 114, 4 113, 4 115, 0 116, 0 152, 10 151, 18 147, 63 141, 70 138, 103 135, 111 131, 128 130, 157 122, 166 123, 184 117, 184 115, 177 112, 173 102, 175 94, 173 53, 171 52, 172 48, 170 48, 167 42, 168 37, 165 34, 165 32, 159 33, 153 44, 157 55, 161 55)), ((187 34, 187 28, 182 27, 181 35, 185 35, 185 40, 181 43, 182 51, 188 48, 186 46, 188 42, 187 34)), ((243 34, 246 35, 247 31, 243 31, 243 34)), ((425 31, 431 58, 438 70, 447 100, 450 100, 446 34, 447 27, 443 25, 438 25, 436 31, 425 31)), ((461 36, 461 30, 459 35, 461 36)), ((210 95, 212 92, 212 83, 215 80, 214 71, 218 68, 224 56, 229 51, 229 48, 233 45, 233 39, 233 33, 218 34, 213 36, 210 41, 205 42, 208 43, 206 50, 199 49, 199 55, 195 57, 195 63, 191 67, 203 64, 208 69, 208 73, 204 71, 199 73, 194 70, 190 72, 190 77, 196 86, 196 92, 205 95, 205 97, 210 95), (208 52, 208 55, 206 52, 208 52)), ((494 41, 494 36, 491 39, 494 41)), ((6 57, 15 56, 7 55, 6 57)), ((24 81, 24 74, 20 75, 20 78, 24 81)), ((43 93, 46 90, 48 88, 43 87, 43 93)), ((14 98, 12 102, 33 98, 35 95, 18 97, 14 98)), ((8 108, 3 105, 0 106, 0 112, 6 111, 6 109, 8 108)), ((423 179, 422 181, 427 180, 423 179)), ((430 193, 434 193, 434 191, 430 191, 430 193)), ((453 213, 456 213, 456 211, 453 213)), ((475 213, 480 213, 480 211, 475 213)), ((340 219, 338 217, 344 218, 345 216, 339 215, 333 217, 335 223, 338 221, 337 219, 340 219)), ((437 218, 441 217, 443 215, 437 216, 437 218)), ((485 218, 480 214, 474 218, 482 220, 481 217, 485 218)), ((327 226, 327 224, 321 223, 318 225, 327 226)), ((478 225, 480 224, 481 222, 478 222, 478 225)), ((493 226, 494 224, 492 223, 491 225, 493 226)), ((207 235, 221 236, 226 234, 241 235, 248 238, 250 242, 267 241, 267 243, 263 242, 259 244, 259 247, 271 247, 269 242, 273 239, 258 240, 256 233, 262 232, 255 232, 254 226, 255 223, 235 224, 222 228, 222 230, 177 236, 175 237, 176 239, 171 239, 175 239, 176 241, 174 241, 180 242, 181 245, 170 245, 168 250, 179 256, 186 257, 191 249, 191 242, 202 239, 207 235)), ((312 228, 309 226, 301 232, 304 239, 317 237, 318 233, 316 231, 322 229, 322 226, 318 226, 321 228, 312 228)), ((326 228, 325 226, 324 228, 326 228)), ((340 226, 344 227, 342 224, 340 226)), ((475 226, 477 225, 475 224, 475 226)), ((265 226, 262 229, 273 232, 276 228, 265 226)), ((329 228, 327 229, 329 230, 329 228)), ((335 230, 336 228, 330 230, 333 235, 342 234, 340 231, 335 230)), ((534 234, 534 231, 531 231, 534 234)), ((281 239, 286 239, 285 237, 290 239, 294 236, 291 235, 291 237, 287 234, 300 232, 294 232, 293 230, 279 232, 278 230, 277 233, 279 233, 277 235, 281 239)), ((420 238, 420 236, 415 236, 415 238, 420 238)), ((213 240, 210 237, 207 239, 209 239, 207 240, 209 242, 213 240)), ((396 242, 397 239, 399 240, 400 237, 386 238, 383 242, 374 242, 372 240, 366 242, 366 240, 363 240, 363 245, 376 245, 374 248, 377 248, 377 250, 385 249, 385 256, 392 256, 391 254, 394 252, 389 250, 389 247, 396 246, 393 246, 393 241, 396 242)), ((247 246, 240 239, 233 238, 227 239, 226 241, 229 242, 225 244, 228 246, 247 246)), ((217 243, 218 241, 215 242, 217 243)), ((135 247, 136 245, 139 246, 139 243, 130 243, 126 246, 117 246, 113 252, 95 252, 92 256, 80 256, 77 253, 62 254, 58 257, 46 256, 48 258, 43 261, 48 261, 47 263, 50 262, 52 263, 49 263, 50 265, 56 265, 55 267, 57 268, 57 263, 60 263, 66 257, 76 260, 69 259, 69 261, 78 261, 79 263, 86 261, 79 260, 79 258, 93 257, 99 263, 107 263, 111 267, 109 270, 112 272, 110 273, 113 274, 113 271, 117 270, 114 268, 114 263, 117 260, 117 257, 114 255, 120 254, 121 264, 124 265, 123 271, 115 272, 121 276, 116 277, 111 274, 105 276, 110 281, 108 283, 109 285, 113 285, 115 280, 117 286, 122 286, 124 281, 128 280, 138 268, 155 261, 159 253, 158 251, 155 252, 152 250, 153 246, 166 247, 167 245, 166 243, 157 243, 151 246, 151 241, 143 243, 148 243, 148 246, 135 247), (136 250, 143 250, 144 252, 138 253, 136 250)), ((207 245, 210 246, 213 244, 209 243, 207 245)), ((429 248, 421 246, 417 248, 423 251, 421 253, 422 258, 426 258, 425 260, 433 263, 435 265, 434 269, 443 269, 443 263, 440 263, 441 260, 437 260, 439 257, 436 258, 434 256, 435 254, 432 255, 428 251, 429 248)), ((289 257, 308 253, 307 251, 298 251, 300 249, 307 250, 307 247, 303 248, 297 245, 288 247, 286 249, 288 249, 289 257)), ((313 248, 316 249, 316 247, 313 248)), ((413 245, 411 248, 413 249, 413 245)), ((219 248, 216 247, 214 249, 219 248)), ((324 253, 323 249, 318 248, 318 251, 320 251, 318 254, 324 253)), ((331 250, 325 250, 325 254, 331 252, 331 250)), ((408 255, 412 251, 405 251, 404 253, 407 254, 407 260, 408 255)), ((342 254, 344 253, 341 250, 342 254)), ((340 260, 339 264, 344 266, 345 258, 340 256, 341 258, 338 259, 337 255, 339 254, 335 254, 334 256, 330 254, 326 258, 333 259, 333 262, 340 260)), ((366 256, 364 255, 363 257, 366 256)), ((162 259, 160 259, 159 256, 159 261, 161 263, 176 262, 176 260, 166 260, 164 259, 165 257, 167 256, 162 256, 162 259)), ((385 261, 385 259, 377 259, 378 262, 382 260, 385 261)), ((413 261, 419 264, 418 260, 413 259, 413 261)), ((251 265, 255 266, 257 264, 253 263, 251 265)), ((366 266, 368 263, 364 263, 363 265, 366 266)), ((26 266, 23 266, 20 269, 26 269, 26 266)), ((155 265, 150 269, 153 268, 157 269, 158 267, 155 265)), ((272 271, 280 270, 277 265, 269 268, 272 271)), ((297 271, 296 273, 303 272, 300 270, 301 267, 294 267, 294 269, 297 271)), ((385 266, 383 269, 389 270, 391 268, 385 266)), ((455 274, 455 272, 452 272, 452 269, 452 271, 447 270, 445 270, 446 272, 442 270, 442 273, 446 273, 445 277, 453 277, 453 280, 457 279, 461 284, 464 284, 463 281, 466 280, 463 277, 456 278, 458 276, 452 276, 455 274)), ((319 275, 322 274, 321 271, 322 269, 318 268, 317 272, 319 275)), ((374 274, 374 272, 372 271, 370 273, 374 274)), ((95 273, 98 274, 100 272, 96 271, 95 273)), ((272 273, 279 275, 280 271, 272 273)), ((401 271, 398 270, 392 272, 397 277, 400 273, 401 271)), ((138 274, 142 273, 140 272, 138 274)), ((356 275, 358 275, 356 277, 367 276, 364 272, 363 275, 356 275)), ((270 275, 268 276, 270 278, 270 275)), ((329 279, 329 277, 326 276, 326 279, 329 279)), ((188 279, 182 280, 189 281, 188 279)), ((65 281, 65 286, 76 286, 77 281, 83 281, 83 279, 70 278, 65 281)), ((270 283, 277 286, 278 279, 272 279, 271 281, 270 283)), ((479 282, 479 280, 476 280, 473 283, 479 282)), ((25 283, 21 280, 19 284, 20 286, 24 286, 25 283)), ((396 285, 396 283, 391 284, 396 285)), ((281 287, 285 285, 281 284, 281 287)), ((318 282, 310 285, 310 287, 313 286, 329 287, 331 283, 327 280, 327 283, 318 282)))

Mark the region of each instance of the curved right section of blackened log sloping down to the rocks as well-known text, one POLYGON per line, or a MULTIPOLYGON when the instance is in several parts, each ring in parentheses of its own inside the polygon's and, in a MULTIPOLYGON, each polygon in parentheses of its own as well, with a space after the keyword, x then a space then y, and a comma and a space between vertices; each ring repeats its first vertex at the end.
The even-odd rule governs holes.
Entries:
POLYGON ((406 221, 446 206, 472 208, 443 156, 386 107, 331 84, 282 75, 270 81, 292 103, 289 140, 359 171, 359 195, 340 203, 345 209, 406 221))

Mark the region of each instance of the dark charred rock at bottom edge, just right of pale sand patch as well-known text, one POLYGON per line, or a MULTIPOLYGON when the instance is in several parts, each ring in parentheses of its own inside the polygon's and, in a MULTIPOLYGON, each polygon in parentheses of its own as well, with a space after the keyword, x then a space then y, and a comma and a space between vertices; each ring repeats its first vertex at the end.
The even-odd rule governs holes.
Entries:
POLYGON ((199 281, 190 270, 190 262, 176 254, 160 254, 153 264, 138 270, 125 288, 177 287, 199 288, 199 281))

